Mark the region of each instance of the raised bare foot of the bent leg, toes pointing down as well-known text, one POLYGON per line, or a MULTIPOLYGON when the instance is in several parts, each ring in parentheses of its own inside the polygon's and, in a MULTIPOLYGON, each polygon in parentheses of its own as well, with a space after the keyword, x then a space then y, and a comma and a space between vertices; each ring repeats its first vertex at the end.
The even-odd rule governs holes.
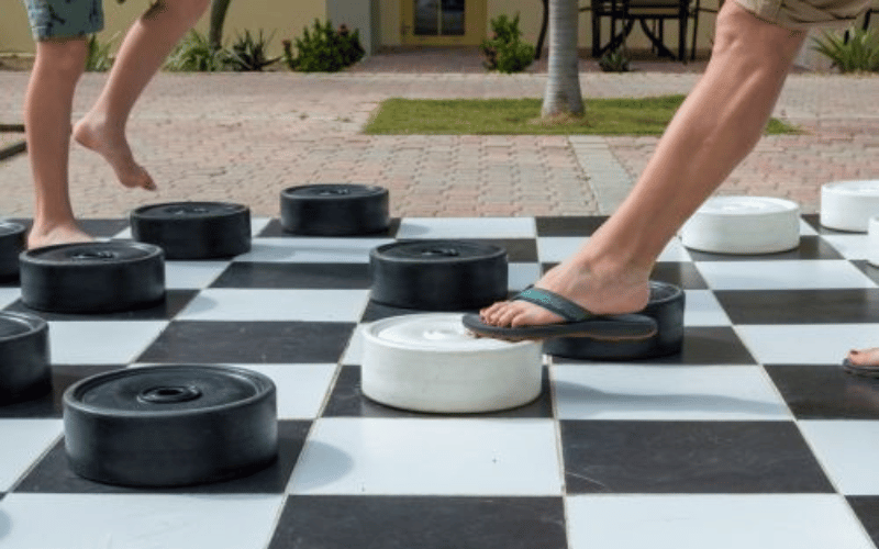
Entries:
POLYGON ((141 188, 155 191, 156 183, 149 173, 134 160, 124 132, 114 132, 102 122, 86 115, 74 126, 74 138, 110 164, 119 182, 130 189, 141 188))

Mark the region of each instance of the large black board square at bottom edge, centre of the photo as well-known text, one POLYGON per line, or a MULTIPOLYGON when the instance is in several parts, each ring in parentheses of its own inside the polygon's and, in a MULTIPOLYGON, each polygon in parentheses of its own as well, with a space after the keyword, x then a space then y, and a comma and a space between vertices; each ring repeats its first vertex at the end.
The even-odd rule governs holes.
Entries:
POLYGON ((563 525, 555 497, 291 496, 269 549, 566 549, 563 525))

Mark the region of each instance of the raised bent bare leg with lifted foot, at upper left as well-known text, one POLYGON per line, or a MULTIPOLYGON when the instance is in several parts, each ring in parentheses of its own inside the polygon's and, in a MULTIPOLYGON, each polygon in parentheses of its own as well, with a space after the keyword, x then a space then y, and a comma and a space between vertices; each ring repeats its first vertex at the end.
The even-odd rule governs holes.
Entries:
POLYGON ((153 4, 129 30, 103 92, 74 127, 76 141, 103 156, 125 187, 156 188, 134 160, 125 124, 146 85, 208 4, 209 0, 158 0, 153 4))

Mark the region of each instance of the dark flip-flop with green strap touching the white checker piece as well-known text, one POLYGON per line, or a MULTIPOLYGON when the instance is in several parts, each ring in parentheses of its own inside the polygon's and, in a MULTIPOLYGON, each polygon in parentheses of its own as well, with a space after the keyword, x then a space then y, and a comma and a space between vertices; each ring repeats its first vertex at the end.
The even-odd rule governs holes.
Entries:
POLYGON ((588 337, 602 341, 647 339, 656 335, 656 320, 643 314, 597 315, 561 295, 541 288, 527 288, 512 298, 526 301, 563 317, 565 322, 516 328, 486 324, 478 314, 464 315, 464 326, 474 334, 508 341, 542 340, 552 337, 588 337))

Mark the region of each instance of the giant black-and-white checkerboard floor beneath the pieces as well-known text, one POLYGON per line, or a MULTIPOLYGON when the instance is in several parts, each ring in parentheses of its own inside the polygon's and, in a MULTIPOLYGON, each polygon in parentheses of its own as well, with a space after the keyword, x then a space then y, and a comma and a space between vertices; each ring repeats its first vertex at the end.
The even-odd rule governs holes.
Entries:
MULTIPOLYGON (((254 220, 253 249, 168 261, 166 303, 49 321, 51 397, 0 408, 3 549, 866 549, 879 540, 879 346, 867 236, 802 221, 769 256, 663 253, 686 290, 680 355, 546 357, 544 391, 485 415, 392 410, 359 390, 368 251, 393 238, 499 243, 518 290, 601 219, 403 219, 386 235, 302 238, 254 220), (132 365, 236 365, 278 386, 280 457, 248 478, 133 490, 67 468, 58 400, 132 365)), ((129 237, 121 220, 92 220, 129 237)), ((0 307, 22 311, 15 285, 0 307)))

